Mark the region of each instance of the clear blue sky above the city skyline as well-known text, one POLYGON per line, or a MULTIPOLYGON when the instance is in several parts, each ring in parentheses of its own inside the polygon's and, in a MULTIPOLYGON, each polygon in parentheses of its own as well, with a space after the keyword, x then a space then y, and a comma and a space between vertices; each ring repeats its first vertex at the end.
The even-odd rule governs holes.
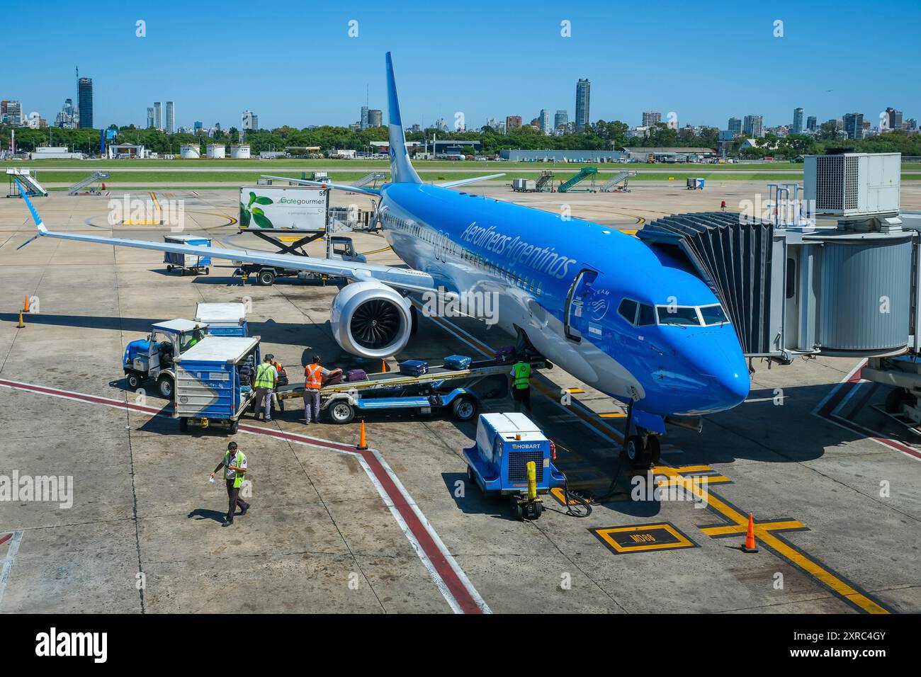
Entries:
POLYGON ((515 114, 527 122, 542 108, 572 119, 579 77, 591 81, 593 121, 631 126, 647 110, 720 128, 747 113, 789 123, 797 106, 820 123, 850 111, 876 123, 887 106, 921 117, 916 0, 4 5, 16 35, 7 45, 28 56, 3 68, 0 99, 49 122, 65 98, 76 102, 78 65, 93 78, 96 126, 144 124, 154 100, 175 101, 182 126, 239 126, 245 109, 262 127, 344 125, 357 120, 366 85, 386 115, 388 50, 407 124, 451 123, 456 111, 468 126, 515 114))

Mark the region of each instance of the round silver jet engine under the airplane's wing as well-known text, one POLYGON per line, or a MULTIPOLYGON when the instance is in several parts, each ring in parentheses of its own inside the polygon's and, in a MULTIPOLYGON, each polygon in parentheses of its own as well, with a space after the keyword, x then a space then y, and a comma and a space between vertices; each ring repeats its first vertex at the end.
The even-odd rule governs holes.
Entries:
POLYGON ((413 331, 412 304, 390 286, 354 282, 332 300, 330 325, 336 343, 352 355, 390 357, 413 331))

